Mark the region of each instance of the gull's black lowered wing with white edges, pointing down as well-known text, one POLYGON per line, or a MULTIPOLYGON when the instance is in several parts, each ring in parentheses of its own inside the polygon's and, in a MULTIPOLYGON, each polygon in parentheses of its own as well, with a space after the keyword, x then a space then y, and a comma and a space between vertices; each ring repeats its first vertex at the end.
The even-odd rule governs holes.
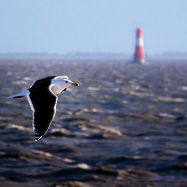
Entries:
POLYGON ((33 131, 37 141, 45 135, 51 125, 56 113, 57 97, 47 89, 31 92, 27 98, 33 111, 33 131))

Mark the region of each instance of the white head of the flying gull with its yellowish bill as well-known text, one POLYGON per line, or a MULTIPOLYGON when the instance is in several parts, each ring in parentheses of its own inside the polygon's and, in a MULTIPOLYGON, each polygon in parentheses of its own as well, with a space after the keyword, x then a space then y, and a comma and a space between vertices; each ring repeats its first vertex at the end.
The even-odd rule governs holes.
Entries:
POLYGON ((58 76, 52 79, 50 89, 57 95, 71 86, 79 86, 79 84, 69 80, 68 76, 58 76))

